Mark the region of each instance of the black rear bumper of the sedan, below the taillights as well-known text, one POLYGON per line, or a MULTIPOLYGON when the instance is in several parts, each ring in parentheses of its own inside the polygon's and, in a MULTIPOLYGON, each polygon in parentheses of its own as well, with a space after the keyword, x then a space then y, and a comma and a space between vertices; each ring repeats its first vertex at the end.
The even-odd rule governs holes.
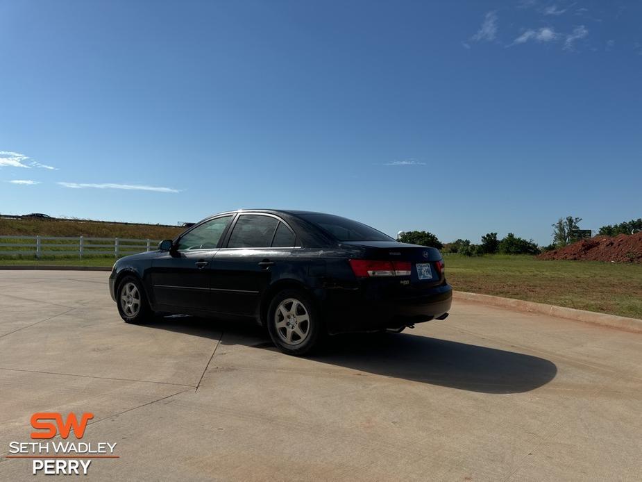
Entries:
POLYGON ((329 333, 397 329, 428 322, 448 313, 453 288, 444 283, 421 297, 378 299, 361 290, 331 290, 326 293, 323 315, 329 333))

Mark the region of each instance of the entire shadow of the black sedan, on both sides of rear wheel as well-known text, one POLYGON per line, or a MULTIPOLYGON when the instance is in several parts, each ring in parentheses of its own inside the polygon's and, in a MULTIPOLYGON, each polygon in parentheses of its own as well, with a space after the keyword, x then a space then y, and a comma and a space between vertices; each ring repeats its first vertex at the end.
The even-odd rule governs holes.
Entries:
MULTIPOLYGON (((249 322, 163 318, 150 328, 278 352, 249 322)), ((282 355, 287 356, 287 355, 282 355)), ((307 359, 371 374, 482 393, 528 392, 555 378, 555 363, 537 356, 412 333, 349 333, 328 337, 307 359)))

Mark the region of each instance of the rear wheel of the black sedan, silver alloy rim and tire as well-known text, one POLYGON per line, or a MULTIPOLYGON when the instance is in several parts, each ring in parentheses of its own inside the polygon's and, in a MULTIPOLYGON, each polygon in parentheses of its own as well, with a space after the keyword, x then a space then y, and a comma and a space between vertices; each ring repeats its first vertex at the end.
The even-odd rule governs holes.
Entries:
POLYGON ((310 353, 321 338, 321 317, 312 299, 300 290, 283 290, 268 310, 270 338, 285 354, 310 353))

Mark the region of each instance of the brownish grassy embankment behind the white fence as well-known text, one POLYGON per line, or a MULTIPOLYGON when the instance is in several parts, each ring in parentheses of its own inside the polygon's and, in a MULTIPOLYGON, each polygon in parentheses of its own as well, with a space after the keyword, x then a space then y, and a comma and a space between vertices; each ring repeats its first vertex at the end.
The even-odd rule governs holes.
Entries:
POLYGON ((184 229, 158 224, 122 224, 63 219, 0 219, 0 235, 167 240, 175 238, 184 229))

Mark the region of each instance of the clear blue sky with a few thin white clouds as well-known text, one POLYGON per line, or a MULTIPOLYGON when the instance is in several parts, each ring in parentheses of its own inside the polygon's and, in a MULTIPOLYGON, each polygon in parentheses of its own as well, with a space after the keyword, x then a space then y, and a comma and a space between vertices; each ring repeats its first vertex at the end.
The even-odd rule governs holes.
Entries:
POLYGON ((642 2, 0 0, 0 212, 642 215, 642 2), (16 182, 19 181, 19 182, 16 182))

